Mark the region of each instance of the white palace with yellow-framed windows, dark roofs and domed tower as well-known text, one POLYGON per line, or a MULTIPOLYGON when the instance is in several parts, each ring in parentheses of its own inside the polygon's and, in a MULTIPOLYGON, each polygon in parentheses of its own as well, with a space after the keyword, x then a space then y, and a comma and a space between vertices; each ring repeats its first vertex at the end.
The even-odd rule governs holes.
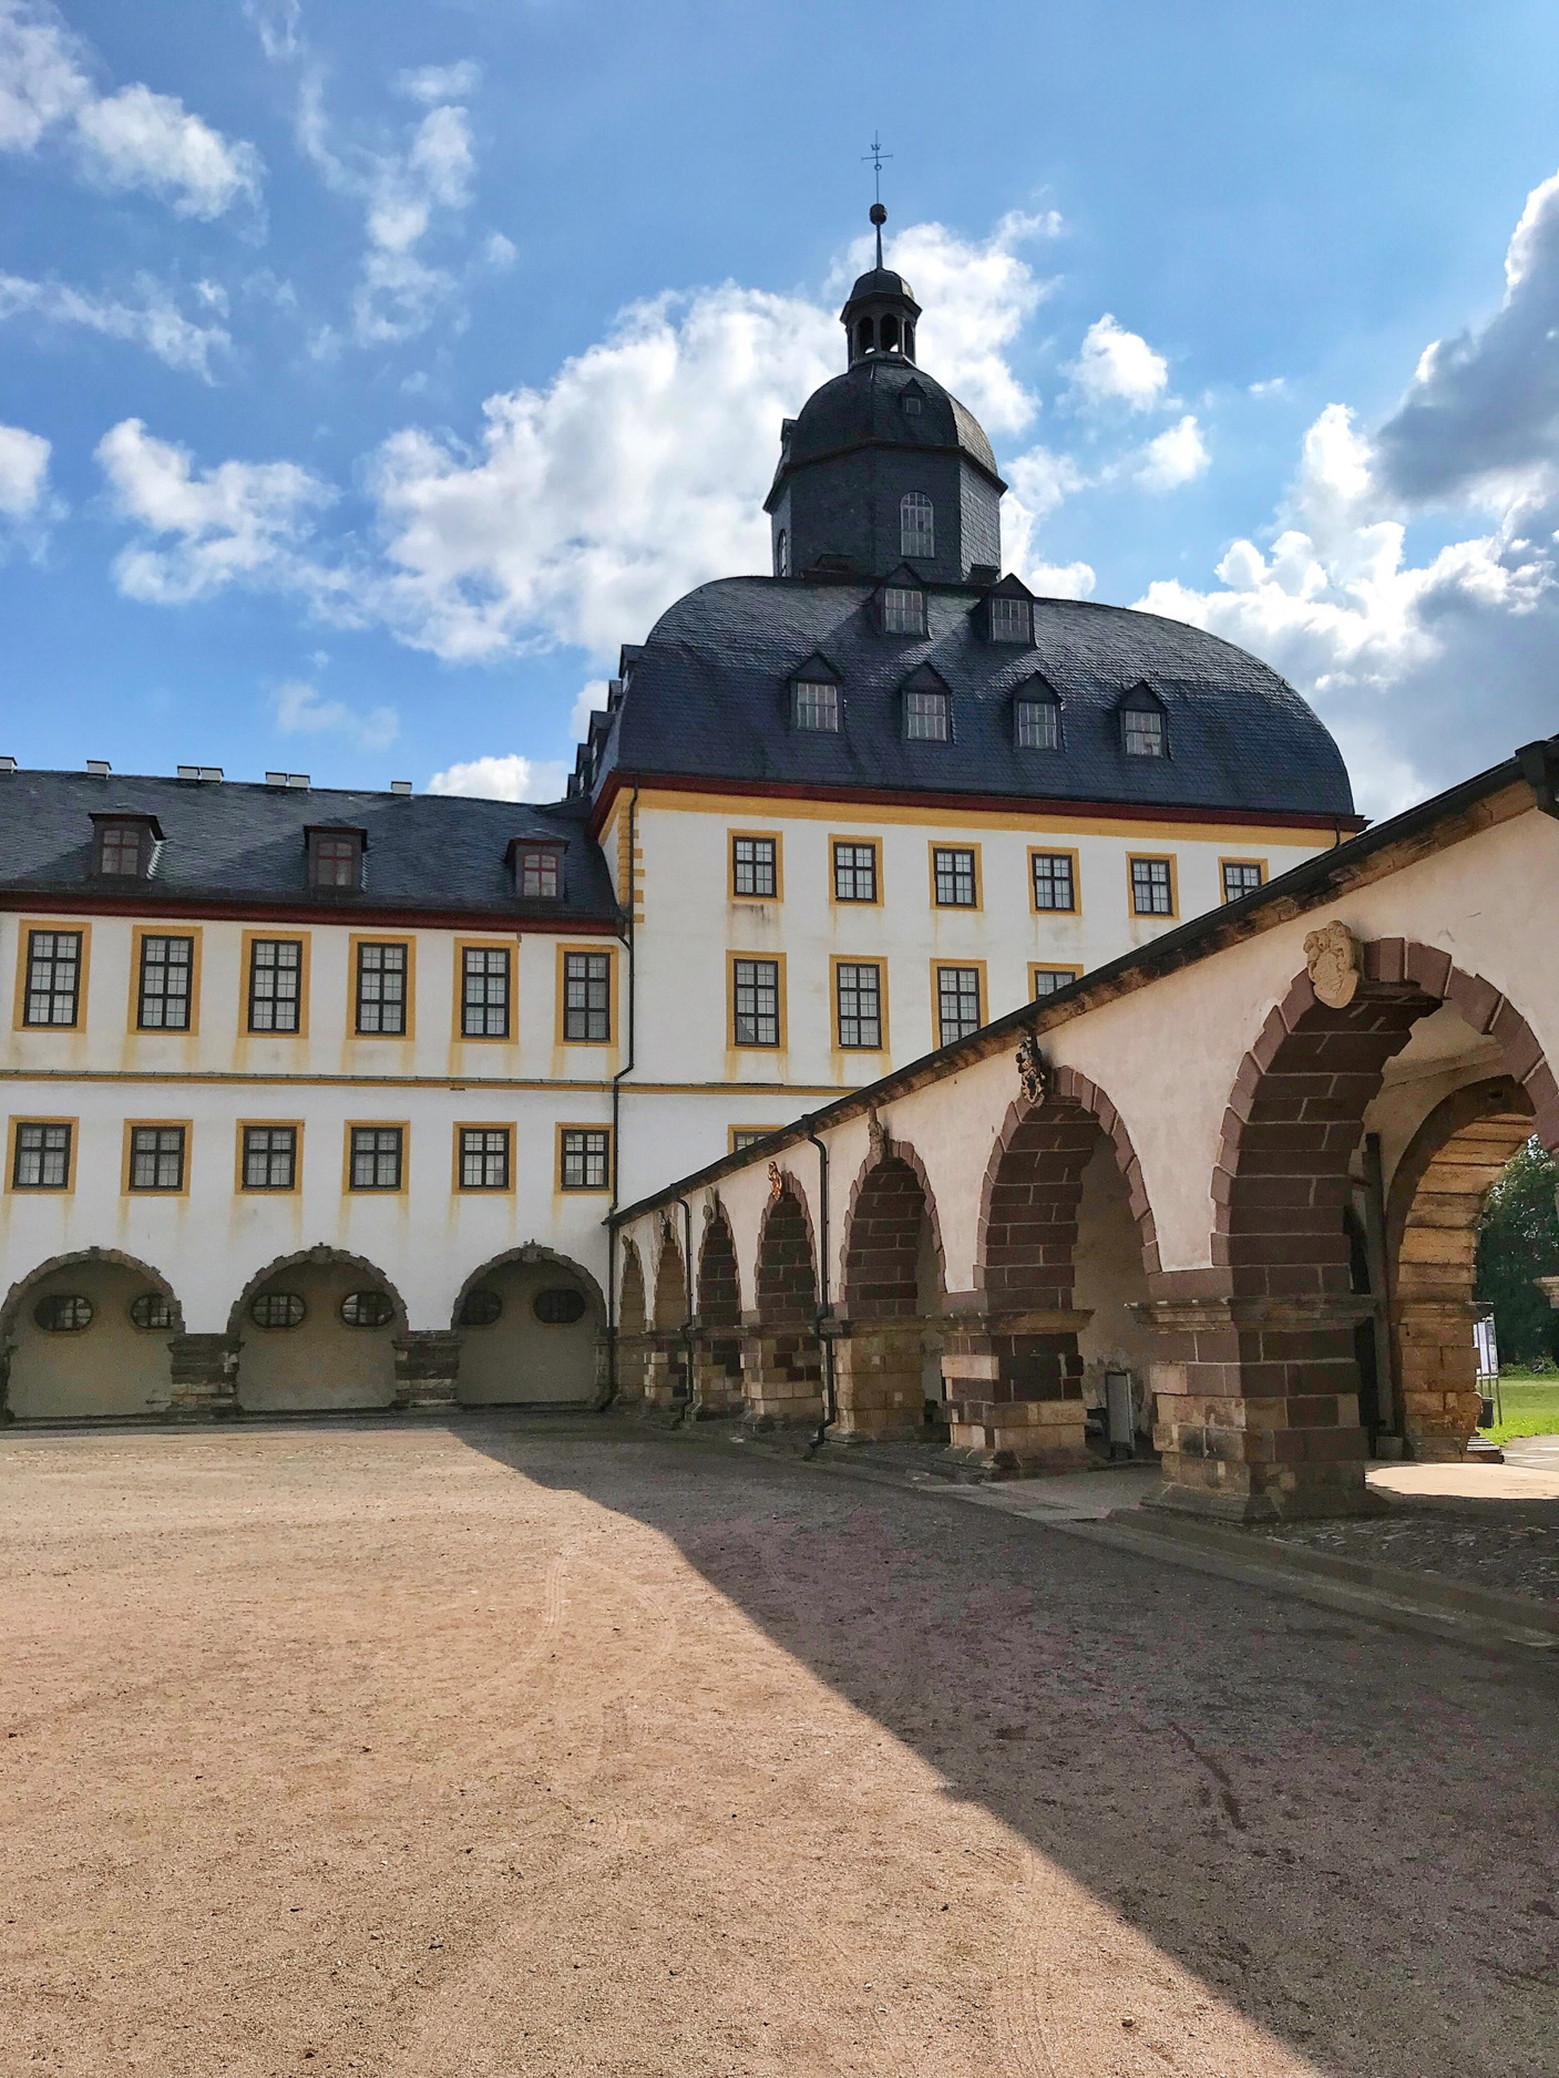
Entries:
POLYGON ((615 1205, 1362 827, 1266 665, 1002 574, 919 316, 555 806, 0 761, 12 1417, 590 1401, 615 1205))

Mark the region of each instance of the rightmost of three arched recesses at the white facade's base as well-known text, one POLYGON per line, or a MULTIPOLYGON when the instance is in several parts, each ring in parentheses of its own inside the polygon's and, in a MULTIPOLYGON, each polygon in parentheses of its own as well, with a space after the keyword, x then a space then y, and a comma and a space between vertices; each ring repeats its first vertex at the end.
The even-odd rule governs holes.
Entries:
POLYGON ((466 1278, 451 1324, 461 1407, 588 1405, 601 1390, 607 1301, 570 1255, 505 1249, 466 1278))

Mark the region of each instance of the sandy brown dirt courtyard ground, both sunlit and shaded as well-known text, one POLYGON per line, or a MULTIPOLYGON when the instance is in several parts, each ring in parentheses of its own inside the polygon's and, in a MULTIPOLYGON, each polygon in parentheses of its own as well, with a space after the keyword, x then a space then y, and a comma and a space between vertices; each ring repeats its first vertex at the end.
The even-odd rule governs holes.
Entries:
POLYGON ((0 1440, 0 2072, 1555 2072, 1553 1677, 578 1421, 0 1440))

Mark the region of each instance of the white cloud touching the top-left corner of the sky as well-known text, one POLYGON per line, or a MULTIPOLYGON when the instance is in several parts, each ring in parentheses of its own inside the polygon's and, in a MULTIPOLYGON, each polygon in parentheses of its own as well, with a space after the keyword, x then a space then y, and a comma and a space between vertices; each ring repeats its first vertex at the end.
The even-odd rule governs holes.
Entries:
POLYGON ((102 94, 91 58, 46 0, 0 0, 0 150, 58 135, 100 187, 148 189, 179 216, 212 220, 258 204, 262 162, 170 94, 135 83, 102 94))

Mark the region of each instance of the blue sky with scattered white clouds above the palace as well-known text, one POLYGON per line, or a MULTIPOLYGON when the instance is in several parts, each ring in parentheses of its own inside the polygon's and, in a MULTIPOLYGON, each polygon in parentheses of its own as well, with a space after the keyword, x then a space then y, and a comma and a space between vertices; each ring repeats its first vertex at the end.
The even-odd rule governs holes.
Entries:
POLYGON ((873 127, 1037 588, 1559 729, 1559 10, 0 0, 0 750, 549 794, 767 567, 873 127))

